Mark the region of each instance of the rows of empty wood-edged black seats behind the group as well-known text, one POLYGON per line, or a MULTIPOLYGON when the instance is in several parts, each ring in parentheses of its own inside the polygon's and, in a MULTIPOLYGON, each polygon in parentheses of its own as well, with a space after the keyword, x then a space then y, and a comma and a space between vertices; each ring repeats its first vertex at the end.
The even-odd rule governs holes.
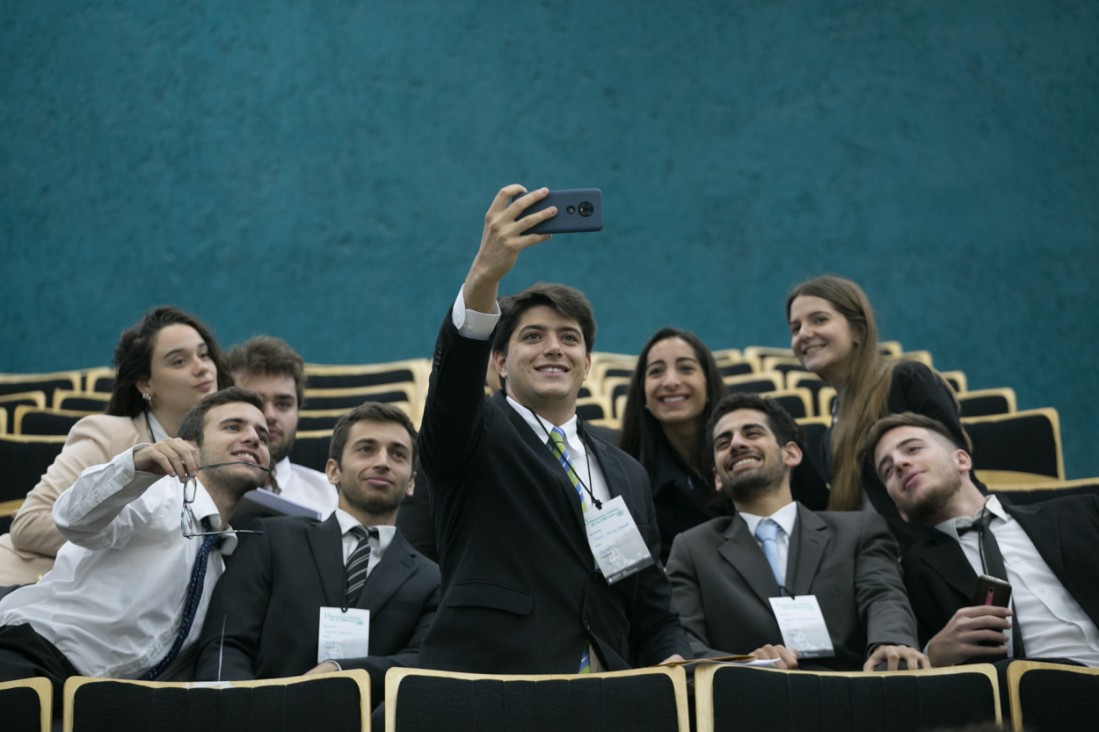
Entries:
MULTIPOLYGON (((903 352, 897 342, 882 344, 890 358, 932 365, 925 351, 903 352)), ((810 450, 819 450, 830 423, 832 387, 806 371, 788 348, 750 346, 714 352, 731 390, 767 393, 777 399, 806 431, 810 450)), ((620 420, 635 355, 596 352, 577 404, 591 423, 611 429, 620 420)), ((398 404, 419 424, 428 392, 431 364, 411 358, 382 364, 307 366, 309 376, 298 440, 291 459, 321 469, 328 458, 332 428, 341 414, 366 400, 398 404)), ((963 371, 945 371, 962 404, 963 422, 974 442, 981 479, 997 489, 1013 490, 1020 500, 1041 498, 1050 489, 1095 490, 1099 479, 1066 481, 1061 426, 1052 408, 1017 409, 1010 388, 969 390, 963 371)), ((40 479, 60 452, 73 424, 102 412, 113 386, 110 368, 48 374, 0 374, 0 531, 4 517, 40 479)))

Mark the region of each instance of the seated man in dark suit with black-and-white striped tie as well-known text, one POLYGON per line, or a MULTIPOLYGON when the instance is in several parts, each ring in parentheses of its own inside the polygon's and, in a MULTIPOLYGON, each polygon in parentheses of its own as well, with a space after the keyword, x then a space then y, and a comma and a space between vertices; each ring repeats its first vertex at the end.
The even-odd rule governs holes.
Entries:
POLYGON ((397 407, 367 402, 336 423, 329 455, 338 508, 325 521, 251 524, 262 533, 241 537, 214 589, 199 640, 199 679, 363 668, 377 705, 386 670, 417 664, 439 605, 439 567, 393 526, 413 489, 415 430, 397 407), (322 609, 336 624, 322 620, 322 609), (368 637, 347 639, 344 621, 362 610, 369 611, 368 637), (326 645, 332 633, 348 640, 343 653, 326 645))

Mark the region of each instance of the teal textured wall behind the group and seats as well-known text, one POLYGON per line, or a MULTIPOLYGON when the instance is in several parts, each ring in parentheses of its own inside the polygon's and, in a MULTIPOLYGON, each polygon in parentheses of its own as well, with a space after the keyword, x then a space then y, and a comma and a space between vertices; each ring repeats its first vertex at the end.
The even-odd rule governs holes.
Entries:
POLYGON ((786 344, 787 290, 1062 414, 1099 475, 1099 4, 0 3, 0 370, 106 364, 162 302, 312 362, 431 352, 502 185, 607 229, 506 281, 786 344))

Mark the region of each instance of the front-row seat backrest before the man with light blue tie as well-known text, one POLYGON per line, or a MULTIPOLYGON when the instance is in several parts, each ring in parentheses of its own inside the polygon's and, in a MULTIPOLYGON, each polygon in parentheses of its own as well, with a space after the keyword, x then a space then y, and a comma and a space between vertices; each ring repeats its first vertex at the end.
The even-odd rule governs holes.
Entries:
POLYGON ((698 732, 917 732, 1000 721, 990 664, 884 673, 708 665, 695 672, 698 732))

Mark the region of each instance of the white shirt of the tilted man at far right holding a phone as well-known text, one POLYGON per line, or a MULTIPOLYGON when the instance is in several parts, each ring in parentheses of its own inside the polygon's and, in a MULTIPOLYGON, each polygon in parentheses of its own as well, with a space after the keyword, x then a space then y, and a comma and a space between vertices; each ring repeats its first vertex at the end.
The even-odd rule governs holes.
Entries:
MULTIPOLYGON (((1019 615, 1026 655, 1070 658, 1086 666, 1099 666, 1099 629, 1053 574, 1019 522, 1003 510, 1000 500, 991 496, 985 506, 996 517, 989 528, 1003 555, 1007 580, 1011 584, 1011 606, 1019 615)), ((962 545, 977 575, 985 574, 979 532, 958 535, 957 519, 935 528, 962 545)), ((1011 633, 1007 635, 1008 653, 1013 654, 1011 633)))

